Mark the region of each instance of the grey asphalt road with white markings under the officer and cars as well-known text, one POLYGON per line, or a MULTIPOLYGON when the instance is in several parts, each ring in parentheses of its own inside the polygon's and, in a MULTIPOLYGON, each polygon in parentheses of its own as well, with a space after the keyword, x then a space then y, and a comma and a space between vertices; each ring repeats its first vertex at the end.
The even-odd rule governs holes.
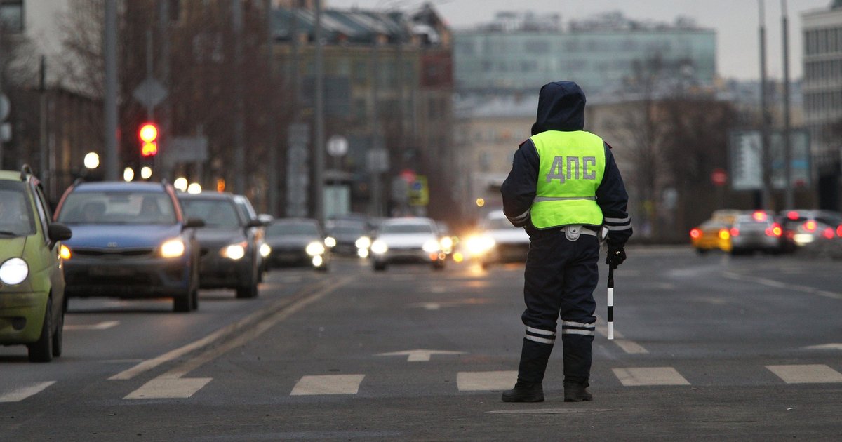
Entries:
POLYGON ((500 401, 522 265, 344 260, 273 271, 256 300, 203 291, 187 314, 72 300, 61 358, 0 348, 0 440, 839 440, 842 263, 628 252, 593 402, 562 402, 560 351, 546 402, 500 401))

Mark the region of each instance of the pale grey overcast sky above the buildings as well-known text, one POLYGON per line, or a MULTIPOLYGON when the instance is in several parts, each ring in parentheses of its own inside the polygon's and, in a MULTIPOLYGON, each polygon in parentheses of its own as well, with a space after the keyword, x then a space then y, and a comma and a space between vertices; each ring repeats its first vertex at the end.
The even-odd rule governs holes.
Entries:
MULTIPOLYGON (((325 0, 328 8, 413 8, 424 0, 325 0)), ((455 29, 493 19, 502 10, 560 13, 562 21, 620 10, 630 19, 672 23, 677 16, 717 31, 717 72, 722 77, 758 79, 759 2, 765 2, 766 72, 783 76, 781 0, 430 0, 455 29)), ((828 8, 831 0, 786 0, 790 22, 790 76, 802 75, 801 13, 828 8)))

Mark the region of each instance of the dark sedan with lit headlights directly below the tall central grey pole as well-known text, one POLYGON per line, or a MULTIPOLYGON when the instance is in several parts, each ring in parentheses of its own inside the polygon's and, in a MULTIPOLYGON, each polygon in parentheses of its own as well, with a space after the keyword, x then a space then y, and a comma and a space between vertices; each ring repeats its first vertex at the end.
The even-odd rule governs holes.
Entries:
POLYGON ((330 249, 318 221, 309 218, 283 218, 269 223, 265 241, 269 244, 269 267, 330 267, 330 249))

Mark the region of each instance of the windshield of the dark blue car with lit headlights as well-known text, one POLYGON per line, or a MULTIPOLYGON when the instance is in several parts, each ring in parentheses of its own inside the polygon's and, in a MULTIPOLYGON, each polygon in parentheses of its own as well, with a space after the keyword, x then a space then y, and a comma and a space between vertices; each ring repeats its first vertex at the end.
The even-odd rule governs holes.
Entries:
POLYGON ((163 192, 72 192, 58 221, 67 224, 175 224, 173 200, 163 192))

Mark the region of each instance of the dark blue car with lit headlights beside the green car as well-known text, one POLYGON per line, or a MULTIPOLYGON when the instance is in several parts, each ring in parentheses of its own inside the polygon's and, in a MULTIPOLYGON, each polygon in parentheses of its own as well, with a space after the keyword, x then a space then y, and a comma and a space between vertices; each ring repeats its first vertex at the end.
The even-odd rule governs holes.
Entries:
POLYGON ((198 308, 200 249, 175 189, 162 183, 74 184, 56 221, 72 226, 65 242, 68 297, 173 299, 175 312, 198 308))

